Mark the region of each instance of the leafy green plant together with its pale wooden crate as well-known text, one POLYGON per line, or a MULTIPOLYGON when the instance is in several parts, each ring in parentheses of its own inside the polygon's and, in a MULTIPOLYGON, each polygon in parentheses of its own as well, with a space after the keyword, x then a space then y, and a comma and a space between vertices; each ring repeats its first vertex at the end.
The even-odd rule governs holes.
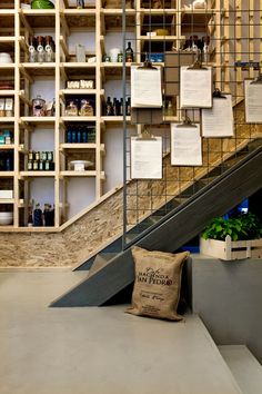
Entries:
POLYGON ((252 213, 218 217, 204 228, 200 253, 224 260, 262 257, 262 224, 252 213))

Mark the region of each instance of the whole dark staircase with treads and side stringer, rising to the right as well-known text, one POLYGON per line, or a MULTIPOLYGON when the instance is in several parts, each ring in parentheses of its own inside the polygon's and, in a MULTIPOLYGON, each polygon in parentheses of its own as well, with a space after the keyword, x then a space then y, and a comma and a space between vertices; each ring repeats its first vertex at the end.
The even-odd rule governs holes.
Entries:
POLYGON ((78 269, 90 276, 54 301, 51 306, 99 306, 124 292, 133 282, 130 247, 174 252, 196 236, 214 216, 240 204, 262 186, 261 139, 251 141, 212 171, 178 194, 128 234, 129 245, 120 250, 120 238, 78 269), (222 166, 222 168, 221 168, 222 166), (182 201, 182 204, 180 204, 182 201), (142 227, 142 232, 141 232, 142 227), (97 265, 97 267, 95 267, 97 265))

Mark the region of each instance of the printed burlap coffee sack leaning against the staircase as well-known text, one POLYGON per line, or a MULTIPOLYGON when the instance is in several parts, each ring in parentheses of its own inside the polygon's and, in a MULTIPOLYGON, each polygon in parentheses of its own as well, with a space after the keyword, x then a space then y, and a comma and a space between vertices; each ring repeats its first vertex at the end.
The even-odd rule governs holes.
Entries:
POLYGON ((170 321, 181 321, 177 308, 183 263, 189 252, 171 254, 132 247, 134 287, 132 306, 125 312, 170 321))

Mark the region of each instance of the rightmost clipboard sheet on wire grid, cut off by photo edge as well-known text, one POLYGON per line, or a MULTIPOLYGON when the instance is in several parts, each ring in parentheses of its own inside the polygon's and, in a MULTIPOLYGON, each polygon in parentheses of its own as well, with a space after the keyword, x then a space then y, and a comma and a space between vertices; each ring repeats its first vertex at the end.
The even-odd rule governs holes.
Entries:
POLYGON ((262 83, 246 79, 244 100, 246 124, 262 124, 262 83))

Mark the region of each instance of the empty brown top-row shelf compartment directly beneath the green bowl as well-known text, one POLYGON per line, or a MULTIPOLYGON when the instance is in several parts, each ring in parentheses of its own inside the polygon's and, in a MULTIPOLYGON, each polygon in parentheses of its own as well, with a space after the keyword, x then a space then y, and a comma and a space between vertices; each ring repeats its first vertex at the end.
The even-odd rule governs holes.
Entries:
POLYGON ((56 10, 20 10, 20 16, 27 20, 31 28, 54 28, 56 10))

